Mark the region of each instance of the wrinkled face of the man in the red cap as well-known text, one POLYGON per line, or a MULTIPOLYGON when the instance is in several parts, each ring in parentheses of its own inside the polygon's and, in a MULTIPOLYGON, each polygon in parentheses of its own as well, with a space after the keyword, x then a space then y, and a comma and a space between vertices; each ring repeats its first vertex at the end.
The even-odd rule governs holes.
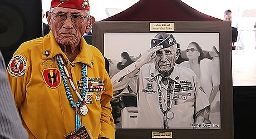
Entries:
MULTIPOLYGON (((76 23, 71 21, 70 16, 72 14, 87 16, 87 13, 85 11, 56 7, 55 9, 53 9, 52 13, 47 13, 47 21, 49 26, 51 27, 53 36, 55 36, 56 41, 63 46, 77 46, 83 34, 87 31, 90 31, 90 29, 88 29, 87 27, 88 21, 90 21, 89 18, 85 18, 82 23, 76 23), (64 21, 56 21, 55 19, 53 19, 52 13, 65 13, 67 15, 67 18, 64 21)), ((93 23, 91 23, 91 25, 93 23)))

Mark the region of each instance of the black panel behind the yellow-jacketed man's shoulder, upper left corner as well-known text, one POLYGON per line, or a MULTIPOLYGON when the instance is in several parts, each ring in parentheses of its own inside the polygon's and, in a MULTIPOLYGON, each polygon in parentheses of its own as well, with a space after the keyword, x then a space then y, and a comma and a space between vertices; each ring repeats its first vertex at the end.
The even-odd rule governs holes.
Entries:
POLYGON ((21 43, 41 36, 41 0, 0 1, 0 49, 6 63, 21 43))

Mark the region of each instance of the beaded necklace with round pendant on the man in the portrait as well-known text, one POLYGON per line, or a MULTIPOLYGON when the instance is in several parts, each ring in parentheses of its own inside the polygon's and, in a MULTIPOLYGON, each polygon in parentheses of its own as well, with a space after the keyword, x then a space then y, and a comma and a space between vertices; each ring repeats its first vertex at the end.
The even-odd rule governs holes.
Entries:
POLYGON ((170 98, 170 93, 171 93, 171 79, 168 78, 169 83, 168 83, 168 88, 167 88, 167 102, 164 98, 163 90, 160 85, 159 77, 157 77, 157 92, 158 92, 158 99, 159 99, 159 106, 160 110, 163 113, 163 128, 169 128, 168 125, 168 119, 171 120, 174 117, 174 113, 171 112, 171 107, 173 106, 173 98, 174 98, 174 91, 175 91, 175 81, 173 82, 173 93, 170 98), (164 110, 163 105, 162 105, 162 97, 164 98, 164 103, 166 106, 166 110, 164 110))

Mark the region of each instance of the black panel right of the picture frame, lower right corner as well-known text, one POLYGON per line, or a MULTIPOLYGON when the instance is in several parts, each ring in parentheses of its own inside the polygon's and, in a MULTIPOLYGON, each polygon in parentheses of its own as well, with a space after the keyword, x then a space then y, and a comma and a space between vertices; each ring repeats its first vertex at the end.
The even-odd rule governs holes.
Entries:
POLYGON ((235 86, 233 93, 235 139, 255 138, 256 86, 235 86))

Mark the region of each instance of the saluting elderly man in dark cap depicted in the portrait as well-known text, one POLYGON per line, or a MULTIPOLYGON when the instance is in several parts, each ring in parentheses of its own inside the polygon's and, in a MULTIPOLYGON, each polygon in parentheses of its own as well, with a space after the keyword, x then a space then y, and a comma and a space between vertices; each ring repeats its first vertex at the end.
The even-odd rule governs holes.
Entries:
POLYGON ((121 96, 128 86, 136 93, 137 128, 194 128, 210 123, 208 98, 195 73, 175 64, 179 55, 172 34, 156 34, 141 58, 111 78, 114 95, 121 96))

